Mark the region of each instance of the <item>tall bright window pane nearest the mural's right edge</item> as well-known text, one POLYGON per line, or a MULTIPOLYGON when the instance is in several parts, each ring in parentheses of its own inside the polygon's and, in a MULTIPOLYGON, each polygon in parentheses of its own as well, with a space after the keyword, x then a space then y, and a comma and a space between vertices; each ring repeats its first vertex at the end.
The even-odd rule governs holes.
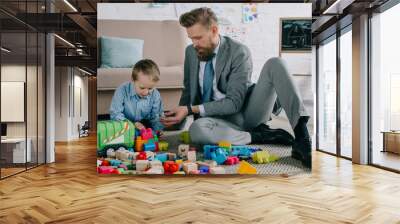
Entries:
POLYGON ((336 153, 336 39, 318 48, 318 146, 336 153))

